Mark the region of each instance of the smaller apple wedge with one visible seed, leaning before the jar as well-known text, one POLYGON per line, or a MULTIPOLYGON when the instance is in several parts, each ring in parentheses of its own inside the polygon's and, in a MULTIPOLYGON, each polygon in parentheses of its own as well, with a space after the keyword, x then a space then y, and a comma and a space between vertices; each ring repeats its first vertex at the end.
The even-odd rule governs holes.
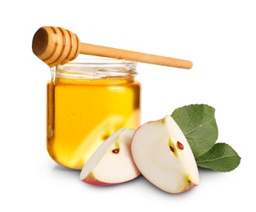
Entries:
POLYGON ((122 128, 106 139, 83 166, 79 179, 85 183, 107 186, 124 183, 140 175, 130 150, 134 132, 122 128))

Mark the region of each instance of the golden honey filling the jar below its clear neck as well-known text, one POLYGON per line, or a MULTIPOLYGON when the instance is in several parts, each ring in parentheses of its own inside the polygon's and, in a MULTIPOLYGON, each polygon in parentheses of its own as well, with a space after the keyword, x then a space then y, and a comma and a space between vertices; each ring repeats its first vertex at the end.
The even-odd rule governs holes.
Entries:
POLYGON ((82 169, 119 128, 140 125, 140 84, 132 78, 47 84, 47 151, 57 163, 82 169))

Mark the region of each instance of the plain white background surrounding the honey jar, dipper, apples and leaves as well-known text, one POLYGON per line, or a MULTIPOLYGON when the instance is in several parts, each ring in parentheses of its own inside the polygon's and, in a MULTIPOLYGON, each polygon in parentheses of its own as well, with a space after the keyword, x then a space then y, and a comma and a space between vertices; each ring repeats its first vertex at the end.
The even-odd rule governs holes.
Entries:
POLYGON ((255 209, 255 1, 2 1, 0 3, 1 211, 231 211, 255 209), (35 31, 61 26, 82 42, 191 60, 191 70, 138 64, 142 122, 186 104, 216 109, 218 142, 242 158, 229 173, 200 170, 178 195, 143 177, 98 188, 46 150, 50 72, 31 51, 35 31), (249 193, 250 192, 250 193, 249 193))

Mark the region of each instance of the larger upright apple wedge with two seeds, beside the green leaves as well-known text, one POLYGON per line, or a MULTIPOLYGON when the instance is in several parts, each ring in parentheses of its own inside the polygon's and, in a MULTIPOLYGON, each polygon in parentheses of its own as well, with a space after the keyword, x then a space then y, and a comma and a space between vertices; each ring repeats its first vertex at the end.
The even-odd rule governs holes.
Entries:
POLYGON ((200 182, 190 145, 170 116, 139 127, 131 151, 141 174, 165 192, 184 192, 200 182))

